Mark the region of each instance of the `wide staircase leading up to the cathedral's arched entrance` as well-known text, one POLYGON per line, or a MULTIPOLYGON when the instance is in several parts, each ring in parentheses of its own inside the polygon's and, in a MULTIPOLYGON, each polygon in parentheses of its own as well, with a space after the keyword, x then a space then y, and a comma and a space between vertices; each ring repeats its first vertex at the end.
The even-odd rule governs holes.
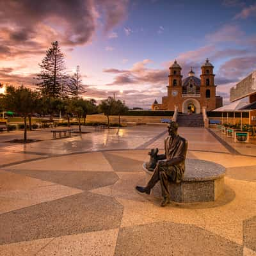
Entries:
POLYGON ((179 127, 204 127, 202 114, 179 114, 177 116, 179 127))

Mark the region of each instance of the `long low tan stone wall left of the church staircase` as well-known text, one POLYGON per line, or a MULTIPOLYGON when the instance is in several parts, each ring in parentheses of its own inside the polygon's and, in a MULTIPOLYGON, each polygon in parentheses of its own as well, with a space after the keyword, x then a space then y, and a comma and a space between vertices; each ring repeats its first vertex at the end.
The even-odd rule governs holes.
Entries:
MULTIPOLYGON (((170 119, 172 120, 172 116, 120 116, 121 123, 161 123, 161 119, 170 119)), ((111 123, 118 123, 118 116, 109 116, 109 120, 111 123)), ((108 118, 105 115, 87 115, 86 116, 87 123, 108 123, 108 118)))

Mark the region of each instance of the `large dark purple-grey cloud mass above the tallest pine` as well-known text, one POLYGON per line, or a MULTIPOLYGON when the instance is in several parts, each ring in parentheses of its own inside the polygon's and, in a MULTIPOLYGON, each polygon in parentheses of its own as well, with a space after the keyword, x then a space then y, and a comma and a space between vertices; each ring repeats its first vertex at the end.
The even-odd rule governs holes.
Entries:
POLYGON ((0 54, 41 54, 52 41, 63 46, 92 40, 97 19, 109 31, 125 19, 128 0, 0 1, 0 54))

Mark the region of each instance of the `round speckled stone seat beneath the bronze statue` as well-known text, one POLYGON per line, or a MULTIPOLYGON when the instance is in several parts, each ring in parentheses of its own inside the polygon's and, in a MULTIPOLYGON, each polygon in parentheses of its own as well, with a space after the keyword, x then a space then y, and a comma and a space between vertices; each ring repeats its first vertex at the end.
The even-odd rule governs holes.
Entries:
MULTIPOLYGON (((146 173, 146 182, 151 178, 143 164, 146 173)), ((186 159, 185 175, 182 182, 169 184, 170 199, 179 203, 215 201, 224 193, 225 167, 220 164, 198 159, 186 159)), ((152 189, 152 195, 161 198, 161 185, 157 182, 152 189)))

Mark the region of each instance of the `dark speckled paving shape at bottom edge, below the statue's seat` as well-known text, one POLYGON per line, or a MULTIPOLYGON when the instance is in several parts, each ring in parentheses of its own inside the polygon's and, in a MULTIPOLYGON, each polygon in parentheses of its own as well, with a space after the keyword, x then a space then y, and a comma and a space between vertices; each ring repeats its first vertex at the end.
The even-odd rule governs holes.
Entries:
POLYGON ((121 228, 115 255, 243 255, 243 246, 194 225, 161 221, 121 228), (167 253, 166 253, 167 252, 167 253))

